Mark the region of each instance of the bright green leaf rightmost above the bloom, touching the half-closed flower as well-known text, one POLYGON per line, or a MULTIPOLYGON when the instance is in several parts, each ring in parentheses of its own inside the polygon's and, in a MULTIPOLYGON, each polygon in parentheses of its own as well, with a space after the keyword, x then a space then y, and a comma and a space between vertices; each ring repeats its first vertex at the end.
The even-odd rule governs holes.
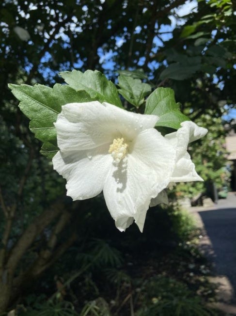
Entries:
POLYGON ((179 110, 180 103, 176 103, 174 92, 170 88, 157 88, 146 101, 145 114, 159 116, 156 126, 166 126, 178 129, 180 123, 189 121, 189 117, 179 110))

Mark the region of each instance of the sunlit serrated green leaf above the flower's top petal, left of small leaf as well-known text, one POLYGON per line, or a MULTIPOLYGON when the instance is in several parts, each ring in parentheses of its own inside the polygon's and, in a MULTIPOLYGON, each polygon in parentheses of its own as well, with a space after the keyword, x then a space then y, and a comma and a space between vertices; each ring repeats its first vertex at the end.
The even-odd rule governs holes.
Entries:
POLYGON ((84 90, 99 102, 108 102, 123 108, 116 86, 100 71, 64 71, 60 75, 76 91, 84 90))

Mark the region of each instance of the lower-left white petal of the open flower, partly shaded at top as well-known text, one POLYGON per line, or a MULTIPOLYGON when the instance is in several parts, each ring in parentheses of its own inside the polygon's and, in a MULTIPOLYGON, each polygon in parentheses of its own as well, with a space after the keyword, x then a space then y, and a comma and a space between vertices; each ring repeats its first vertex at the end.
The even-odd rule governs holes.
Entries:
POLYGON ((54 169, 66 179, 67 195, 73 200, 84 200, 99 194, 112 161, 107 146, 91 151, 59 151, 52 159, 54 169))

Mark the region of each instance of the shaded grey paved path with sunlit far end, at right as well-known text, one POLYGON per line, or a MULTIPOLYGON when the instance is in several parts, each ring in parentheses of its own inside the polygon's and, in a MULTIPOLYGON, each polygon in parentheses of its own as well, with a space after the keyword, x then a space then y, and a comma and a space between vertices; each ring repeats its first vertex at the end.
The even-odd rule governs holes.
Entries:
MULTIPOLYGON (((212 207, 191 207, 206 232, 203 249, 213 260, 216 274, 227 277, 236 293, 236 192, 212 207)), ((236 304, 236 295, 231 295, 236 304)))

